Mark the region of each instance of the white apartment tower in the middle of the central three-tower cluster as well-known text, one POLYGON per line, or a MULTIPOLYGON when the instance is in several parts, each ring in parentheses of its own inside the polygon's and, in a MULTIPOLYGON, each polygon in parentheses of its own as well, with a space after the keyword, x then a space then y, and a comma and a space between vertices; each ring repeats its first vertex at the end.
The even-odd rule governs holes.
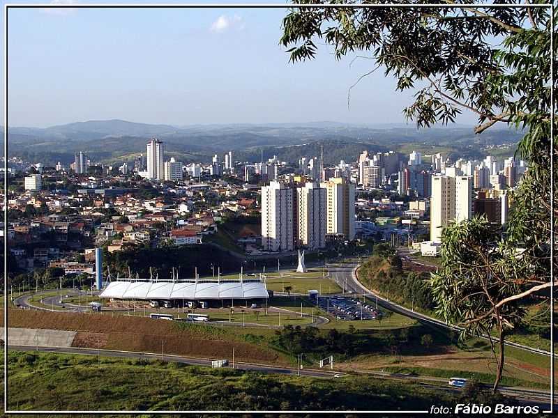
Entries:
POLYGON ((326 246, 327 190, 319 183, 296 189, 298 206, 298 246, 308 249, 326 246))

